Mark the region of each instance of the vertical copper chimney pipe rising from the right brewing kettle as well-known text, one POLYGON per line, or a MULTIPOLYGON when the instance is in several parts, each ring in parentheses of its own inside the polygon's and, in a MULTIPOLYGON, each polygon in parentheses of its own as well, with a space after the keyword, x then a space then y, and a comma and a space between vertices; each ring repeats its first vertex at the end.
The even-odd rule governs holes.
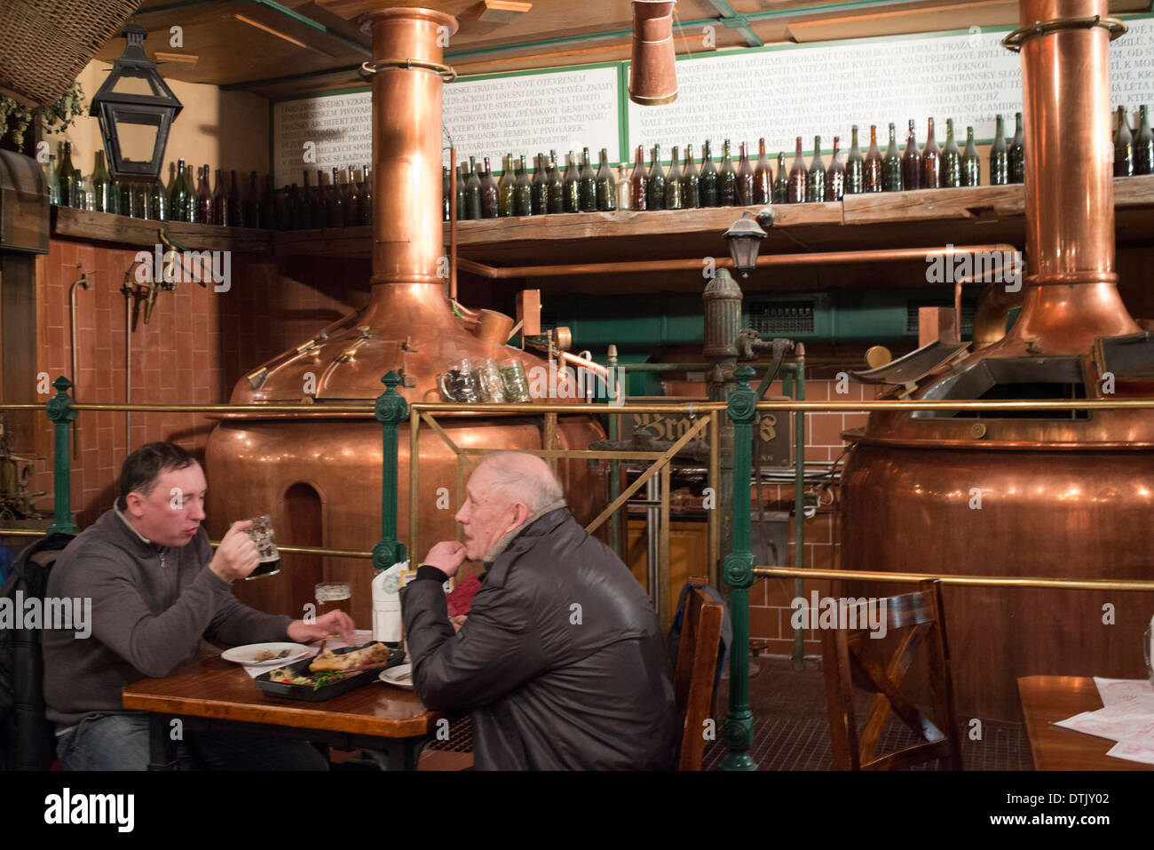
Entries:
POLYGON ((1107 0, 1022 0, 1026 255, 1021 316, 1006 344, 1085 353, 1097 336, 1138 333, 1114 270, 1107 0), (1102 18, 1095 21, 1094 18, 1102 18), (1079 22, 1080 20, 1080 22, 1079 22))

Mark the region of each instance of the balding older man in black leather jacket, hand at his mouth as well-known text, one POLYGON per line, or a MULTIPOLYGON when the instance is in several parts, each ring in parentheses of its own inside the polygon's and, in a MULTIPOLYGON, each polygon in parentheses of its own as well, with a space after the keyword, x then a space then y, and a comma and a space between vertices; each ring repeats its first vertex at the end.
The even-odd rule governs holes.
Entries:
POLYGON ((465 543, 429 550, 400 591, 418 695, 469 710, 479 769, 669 769, 668 659, 649 597, 585 532, 539 457, 478 464, 457 512, 465 543), (441 584, 485 574, 455 632, 441 584))

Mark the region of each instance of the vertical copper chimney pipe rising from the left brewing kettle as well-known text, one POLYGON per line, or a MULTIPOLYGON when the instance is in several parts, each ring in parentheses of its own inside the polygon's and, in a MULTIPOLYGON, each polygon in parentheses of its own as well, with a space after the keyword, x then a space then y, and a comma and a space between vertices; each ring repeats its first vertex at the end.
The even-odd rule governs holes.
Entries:
MULTIPOLYGON (((433 9, 382 8, 365 20, 373 62, 440 65, 457 20, 433 9)), ((444 283, 441 215, 442 85, 425 67, 373 75, 373 283, 444 283)))

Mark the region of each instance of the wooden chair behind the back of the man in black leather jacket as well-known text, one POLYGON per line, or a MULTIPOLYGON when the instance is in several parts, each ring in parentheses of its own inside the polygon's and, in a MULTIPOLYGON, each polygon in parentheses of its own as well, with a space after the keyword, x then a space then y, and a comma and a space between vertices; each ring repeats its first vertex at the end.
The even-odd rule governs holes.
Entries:
MULTIPOLYGON (((704 586, 709 580, 691 575, 689 582, 704 586)), ((677 755, 679 770, 702 769, 702 756, 705 753, 703 732, 713 708, 713 685, 724 614, 725 607, 711 599, 702 588, 690 590, 685 599, 685 616, 677 643, 677 669, 673 680, 677 713, 684 718, 677 755)))

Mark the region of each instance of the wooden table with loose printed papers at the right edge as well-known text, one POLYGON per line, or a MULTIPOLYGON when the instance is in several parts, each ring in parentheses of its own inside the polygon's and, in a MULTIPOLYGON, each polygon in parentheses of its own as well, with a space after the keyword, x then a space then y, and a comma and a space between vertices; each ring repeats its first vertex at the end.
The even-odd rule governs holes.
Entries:
POLYGON ((1026 676, 1018 679, 1018 695, 1036 770, 1154 770, 1154 765, 1107 755, 1112 740, 1052 725, 1102 708, 1093 678, 1026 676))

